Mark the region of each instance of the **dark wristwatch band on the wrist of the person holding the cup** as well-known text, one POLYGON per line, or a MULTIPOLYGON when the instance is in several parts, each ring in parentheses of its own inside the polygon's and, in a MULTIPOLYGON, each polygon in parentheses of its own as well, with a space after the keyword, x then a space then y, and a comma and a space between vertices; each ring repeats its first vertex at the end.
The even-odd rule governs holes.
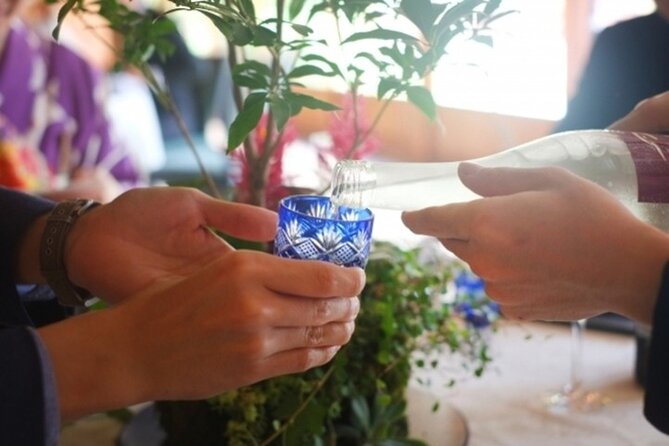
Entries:
POLYGON ((65 241, 77 219, 99 206, 93 200, 68 200, 59 203, 49 215, 40 244, 40 270, 58 301, 67 306, 83 306, 90 292, 75 286, 65 268, 65 241))

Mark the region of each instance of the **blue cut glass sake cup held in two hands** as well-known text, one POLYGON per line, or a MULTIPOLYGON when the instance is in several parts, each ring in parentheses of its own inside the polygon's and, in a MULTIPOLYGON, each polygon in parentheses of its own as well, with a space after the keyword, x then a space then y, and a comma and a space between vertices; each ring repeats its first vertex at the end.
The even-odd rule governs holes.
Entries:
POLYGON ((274 254, 364 268, 373 225, 374 214, 366 208, 336 210, 330 199, 321 195, 286 197, 279 203, 274 254))

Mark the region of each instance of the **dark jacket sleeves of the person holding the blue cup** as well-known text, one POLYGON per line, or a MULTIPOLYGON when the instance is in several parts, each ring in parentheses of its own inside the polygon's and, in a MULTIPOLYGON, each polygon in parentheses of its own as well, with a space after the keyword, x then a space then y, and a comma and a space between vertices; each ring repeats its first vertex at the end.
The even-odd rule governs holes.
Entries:
POLYGON ((51 202, 0 187, 0 444, 55 445, 60 416, 51 363, 14 283, 18 241, 51 202))

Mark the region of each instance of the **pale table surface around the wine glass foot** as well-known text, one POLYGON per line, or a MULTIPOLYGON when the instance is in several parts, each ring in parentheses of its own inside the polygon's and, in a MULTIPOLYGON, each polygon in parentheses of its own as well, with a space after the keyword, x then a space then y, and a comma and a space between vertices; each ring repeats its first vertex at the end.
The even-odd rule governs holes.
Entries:
MULTIPOLYGON (((449 389, 440 385, 447 377, 438 370, 429 373, 432 385, 420 391, 464 415, 467 446, 669 445, 669 437, 642 414, 634 338, 588 330, 584 339, 585 386, 611 399, 598 411, 559 414, 543 405, 542 397, 568 378, 570 331, 562 324, 502 322, 492 338, 494 362, 482 378, 466 378, 449 389)), ((444 424, 451 415, 431 417, 423 423, 444 424)))

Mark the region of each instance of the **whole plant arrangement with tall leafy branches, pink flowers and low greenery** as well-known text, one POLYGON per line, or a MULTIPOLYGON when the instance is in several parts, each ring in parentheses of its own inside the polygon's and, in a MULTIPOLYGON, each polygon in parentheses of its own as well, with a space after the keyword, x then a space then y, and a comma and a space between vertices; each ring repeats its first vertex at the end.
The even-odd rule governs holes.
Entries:
MULTIPOLYGON (((231 94, 239 110, 229 128, 228 152, 242 160, 238 197, 269 207, 278 200, 277 194, 285 193, 279 184, 280 155, 291 120, 304 109, 335 115, 340 110, 340 105, 307 89, 307 80, 346 87, 348 102, 340 116, 346 120, 348 136, 345 144, 336 144, 335 158, 354 157, 361 147, 369 147, 376 125, 393 101, 405 98, 435 119, 437 107, 426 86, 429 74, 457 39, 491 44, 489 25, 504 15, 496 13, 501 0, 169 3, 163 15, 184 10, 203 14, 228 43, 231 94), (322 35, 323 29, 332 32, 322 35), (362 113, 365 89, 383 104, 369 119, 362 113)), ((152 51, 169 53, 165 37, 173 32, 170 22, 145 16, 119 0, 67 0, 56 37, 70 13, 106 18, 123 36, 120 60, 144 73, 178 116, 146 64, 152 51)), ((184 136, 188 141, 187 132, 184 136)), ((203 173, 206 176, 204 169, 203 173)), ((209 187, 217 194, 213 182, 209 187)), ((440 302, 440 296, 453 287, 453 268, 461 265, 431 267, 419 258, 419 250, 375 246, 356 334, 331 364, 209 401, 159 403, 166 444, 417 444, 408 438, 405 414, 412 367, 426 365, 415 354, 450 348, 464 353, 466 363, 479 374, 489 360, 479 329, 494 314, 477 293, 440 302)))

